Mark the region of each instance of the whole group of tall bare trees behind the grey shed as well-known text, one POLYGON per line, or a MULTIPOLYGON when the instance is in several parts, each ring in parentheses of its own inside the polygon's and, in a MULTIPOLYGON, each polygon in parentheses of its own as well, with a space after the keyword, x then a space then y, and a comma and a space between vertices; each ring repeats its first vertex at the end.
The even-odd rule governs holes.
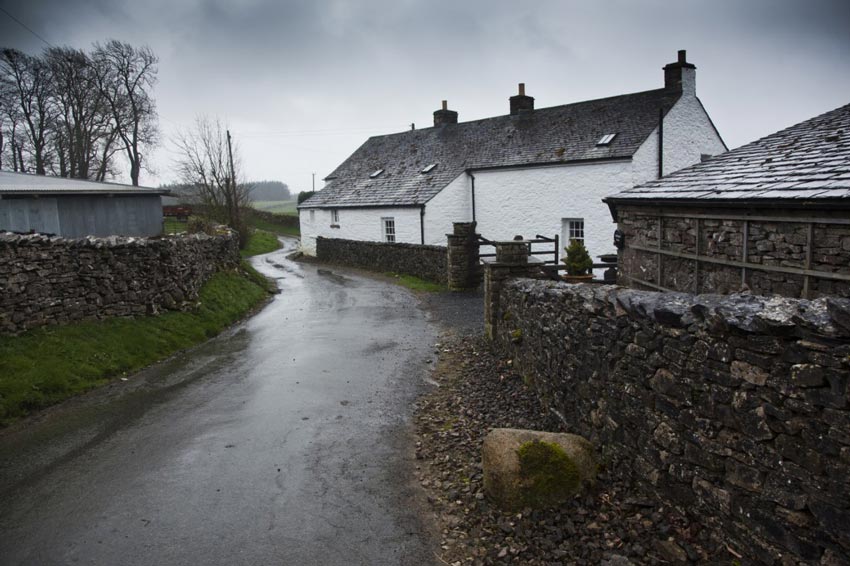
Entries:
POLYGON ((138 186, 159 141, 158 61, 114 39, 90 52, 0 49, 0 169, 105 181, 123 159, 138 186))

